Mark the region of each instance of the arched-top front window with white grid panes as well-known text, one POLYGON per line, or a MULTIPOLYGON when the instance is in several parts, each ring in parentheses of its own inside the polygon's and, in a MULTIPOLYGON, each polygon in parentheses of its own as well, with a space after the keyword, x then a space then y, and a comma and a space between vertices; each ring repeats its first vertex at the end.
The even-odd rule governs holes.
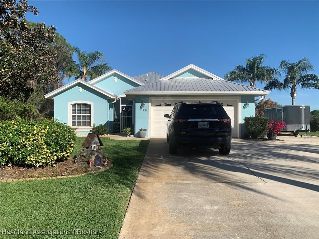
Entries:
POLYGON ((72 105, 72 126, 91 126, 91 105, 72 105))

